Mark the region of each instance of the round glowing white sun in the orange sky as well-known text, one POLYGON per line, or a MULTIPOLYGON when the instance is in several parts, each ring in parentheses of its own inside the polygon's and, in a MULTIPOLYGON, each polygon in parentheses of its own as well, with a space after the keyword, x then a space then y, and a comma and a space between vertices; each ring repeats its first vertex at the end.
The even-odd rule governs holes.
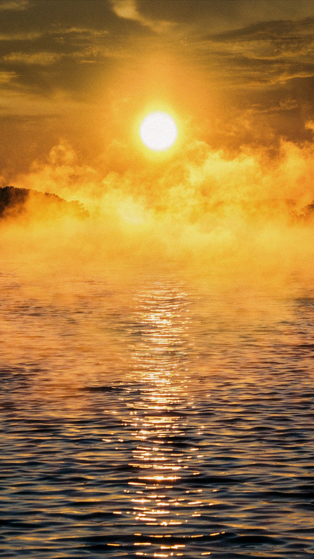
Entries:
POLYGON ((156 111, 145 116, 140 126, 140 136, 147 148, 164 151, 177 140, 178 129, 172 116, 156 111))

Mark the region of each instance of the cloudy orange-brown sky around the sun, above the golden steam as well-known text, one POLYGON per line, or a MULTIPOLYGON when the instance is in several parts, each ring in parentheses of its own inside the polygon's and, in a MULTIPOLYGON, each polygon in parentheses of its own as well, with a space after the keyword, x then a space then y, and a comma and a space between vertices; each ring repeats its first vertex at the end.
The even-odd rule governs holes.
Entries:
POLYGON ((60 140, 123 169, 158 103, 213 149, 311 141, 313 32, 311 0, 1 0, 2 176, 60 140))

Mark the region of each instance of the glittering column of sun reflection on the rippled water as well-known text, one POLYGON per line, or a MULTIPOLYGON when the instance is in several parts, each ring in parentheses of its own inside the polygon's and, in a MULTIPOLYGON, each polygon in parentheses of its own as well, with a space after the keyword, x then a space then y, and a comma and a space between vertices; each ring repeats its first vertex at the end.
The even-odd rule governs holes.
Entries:
MULTIPOLYGON (((187 523, 191 512, 192 517, 199 516, 202 505, 199 499, 189 499, 182 488, 175 490, 183 476, 199 473, 193 468, 198 448, 180 444, 188 428, 185 414, 193 409, 188 307, 187 294, 178 286, 157 284, 153 291, 142 290, 136 296, 130 381, 139 390, 126 404, 130 411, 124 423, 133 428, 131 435, 139 444, 129 463, 134 479, 129 481, 132 491, 128 498, 138 524, 160 527, 160 534, 154 537, 167 537, 164 530, 187 523), (193 508, 188 516, 187 505, 193 508)), ((178 550, 184 547, 178 544, 160 549, 169 549, 172 556, 182 555, 178 550)), ((161 556, 168 557, 168 553, 161 556)))

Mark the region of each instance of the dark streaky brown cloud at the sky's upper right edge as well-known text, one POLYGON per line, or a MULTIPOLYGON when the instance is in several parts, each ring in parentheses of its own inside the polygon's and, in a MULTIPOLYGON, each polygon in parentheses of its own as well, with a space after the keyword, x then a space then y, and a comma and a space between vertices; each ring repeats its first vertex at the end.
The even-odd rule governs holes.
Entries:
POLYGON ((194 46, 198 58, 234 83, 277 84, 314 75, 314 18, 256 23, 194 46))

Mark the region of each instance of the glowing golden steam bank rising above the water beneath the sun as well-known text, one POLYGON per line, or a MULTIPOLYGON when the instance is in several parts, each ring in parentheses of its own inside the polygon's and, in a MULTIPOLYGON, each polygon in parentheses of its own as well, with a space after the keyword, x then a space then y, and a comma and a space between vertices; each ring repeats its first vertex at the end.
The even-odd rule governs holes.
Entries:
POLYGON ((109 173, 80 165, 60 144, 13 184, 79 200, 90 219, 11 221, 2 248, 11 258, 35 252, 97 266, 170 259, 232 273, 311 272, 313 171, 313 144, 286 141, 275 158, 252 149, 231 158, 194 141, 162 164, 109 173))

